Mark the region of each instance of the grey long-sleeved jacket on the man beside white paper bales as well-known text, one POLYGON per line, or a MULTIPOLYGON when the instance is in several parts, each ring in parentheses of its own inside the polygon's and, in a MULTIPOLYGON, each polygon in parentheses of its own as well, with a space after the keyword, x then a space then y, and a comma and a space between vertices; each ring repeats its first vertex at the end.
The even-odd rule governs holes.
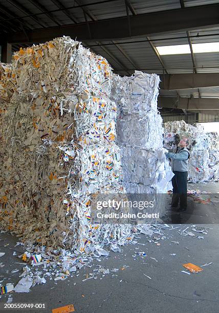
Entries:
POLYGON ((188 159, 190 157, 189 151, 186 147, 175 148, 173 152, 165 153, 167 158, 172 160, 172 171, 187 172, 188 171, 188 159), (176 152, 177 151, 177 152, 176 152))

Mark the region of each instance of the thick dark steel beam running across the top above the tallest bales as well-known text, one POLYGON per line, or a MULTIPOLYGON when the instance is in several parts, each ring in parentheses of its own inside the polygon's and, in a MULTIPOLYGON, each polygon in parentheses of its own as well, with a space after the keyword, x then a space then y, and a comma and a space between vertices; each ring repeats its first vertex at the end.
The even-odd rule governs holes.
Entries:
MULTIPOLYGON (((215 27, 219 25, 219 4, 144 13, 129 16, 129 19, 133 37, 215 27)), ((92 40, 117 40, 129 37, 126 22, 126 16, 90 21, 92 40)), ((86 23, 46 28, 43 31, 38 29, 29 31, 32 42, 47 41, 62 35, 69 35, 72 38, 77 36, 79 40, 90 40, 86 23)), ((18 40, 25 42, 26 38, 22 33, 12 33, 8 40, 12 43, 18 40)))

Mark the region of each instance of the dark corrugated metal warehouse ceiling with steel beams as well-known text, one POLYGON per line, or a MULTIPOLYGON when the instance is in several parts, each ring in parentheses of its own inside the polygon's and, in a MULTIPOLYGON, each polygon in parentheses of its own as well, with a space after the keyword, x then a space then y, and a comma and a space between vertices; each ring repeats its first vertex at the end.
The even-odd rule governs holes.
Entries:
POLYGON ((0 25, 2 47, 9 42, 16 51, 69 35, 104 56, 115 73, 162 75, 160 107, 218 112, 218 51, 193 52, 194 44, 219 42, 218 1, 1 0, 0 25), (157 48, 185 44, 189 53, 160 55, 157 48))

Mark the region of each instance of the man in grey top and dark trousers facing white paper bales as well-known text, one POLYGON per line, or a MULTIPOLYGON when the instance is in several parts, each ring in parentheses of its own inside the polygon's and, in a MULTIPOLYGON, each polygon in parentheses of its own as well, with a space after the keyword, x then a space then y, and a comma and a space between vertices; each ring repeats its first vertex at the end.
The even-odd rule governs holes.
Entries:
POLYGON ((178 212, 184 212, 187 209, 187 177, 188 177, 188 159, 190 157, 189 151, 186 148, 189 140, 183 137, 180 140, 179 146, 176 150, 166 152, 166 157, 172 160, 172 202, 171 207, 176 208, 180 200, 180 209, 178 212))

